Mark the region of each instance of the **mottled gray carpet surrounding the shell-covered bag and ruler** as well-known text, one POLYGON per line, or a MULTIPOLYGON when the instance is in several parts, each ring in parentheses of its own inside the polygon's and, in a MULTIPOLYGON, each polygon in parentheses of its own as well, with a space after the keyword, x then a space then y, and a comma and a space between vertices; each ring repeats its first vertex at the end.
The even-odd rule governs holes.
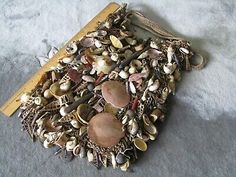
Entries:
MULTIPOLYGON (((109 1, 1 0, 0 104, 39 68, 35 55, 62 46, 109 1)), ((236 3, 130 1, 209 59, 184 74, 157 141, 124 173, 97 170, 85 159, 62 162, 32 143, 14 115, 0 115, 1 177, 234 177, 236 175, 236 3)))

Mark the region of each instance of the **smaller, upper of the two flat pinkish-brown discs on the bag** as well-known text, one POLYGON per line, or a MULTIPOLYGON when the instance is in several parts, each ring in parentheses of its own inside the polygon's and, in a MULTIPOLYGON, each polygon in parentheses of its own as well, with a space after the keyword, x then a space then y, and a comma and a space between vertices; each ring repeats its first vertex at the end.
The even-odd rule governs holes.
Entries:
POLYGON ((114 107, 125 107, 130 101, 130 95, 126 92, 125 85, 119 81, 107 81, 102 85, 102 96, 106 102, 114 107))

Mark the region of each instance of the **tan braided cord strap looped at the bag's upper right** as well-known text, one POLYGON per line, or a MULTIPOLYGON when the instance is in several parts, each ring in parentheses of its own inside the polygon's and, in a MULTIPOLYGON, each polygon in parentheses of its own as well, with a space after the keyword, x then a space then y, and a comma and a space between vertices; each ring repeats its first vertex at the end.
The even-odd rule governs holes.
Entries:
MULTIPOLYGON (((169 40, 186 41, 183 38, 174 36, 169 31, 163 29, 158 23, 148 19, 147 17, 145 17, 142 13, 140 13, 138 11, 130 11, 128 16, 129 15, 136 17, 137 21, 139 22, 138 23, 136 21, 131 21, 131 23, 133 25, 138 26, 144 30, 147 30, 159 38, 169 39, 169 40)), ((193 63, 191 63, 191 59, 186 58, 186 63, 188 65, 186 70, 190 70, 191 68, 202 69, 204 67, 204 65, 206 64, 206 59, 199 53, 195 53, 195 57, 196 56, 199 56, 199 58, 201 59, 198 64, 193 64, 193 63)))

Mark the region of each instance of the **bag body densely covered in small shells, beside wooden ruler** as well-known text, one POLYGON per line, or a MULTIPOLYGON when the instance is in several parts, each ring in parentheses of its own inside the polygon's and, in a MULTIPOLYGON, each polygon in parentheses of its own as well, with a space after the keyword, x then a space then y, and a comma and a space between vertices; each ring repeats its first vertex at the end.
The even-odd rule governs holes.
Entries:
POLYGON ((21 96, 19 117, 33 140, 69 160, 126 171, 156 139, 193 53, 185 41, 138 39, 130 18, 125 8, 110 14, 21 96))

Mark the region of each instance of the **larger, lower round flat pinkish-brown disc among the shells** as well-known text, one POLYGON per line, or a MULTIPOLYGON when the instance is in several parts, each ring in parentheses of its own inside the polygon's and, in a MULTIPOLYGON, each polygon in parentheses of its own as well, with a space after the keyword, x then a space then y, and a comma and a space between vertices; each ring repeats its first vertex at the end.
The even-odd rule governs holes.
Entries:
POLYGON ((99 113, 88 124, 90 140, 101 147, 112 147, 124 137, 122 123, 111 113, 99 113))

